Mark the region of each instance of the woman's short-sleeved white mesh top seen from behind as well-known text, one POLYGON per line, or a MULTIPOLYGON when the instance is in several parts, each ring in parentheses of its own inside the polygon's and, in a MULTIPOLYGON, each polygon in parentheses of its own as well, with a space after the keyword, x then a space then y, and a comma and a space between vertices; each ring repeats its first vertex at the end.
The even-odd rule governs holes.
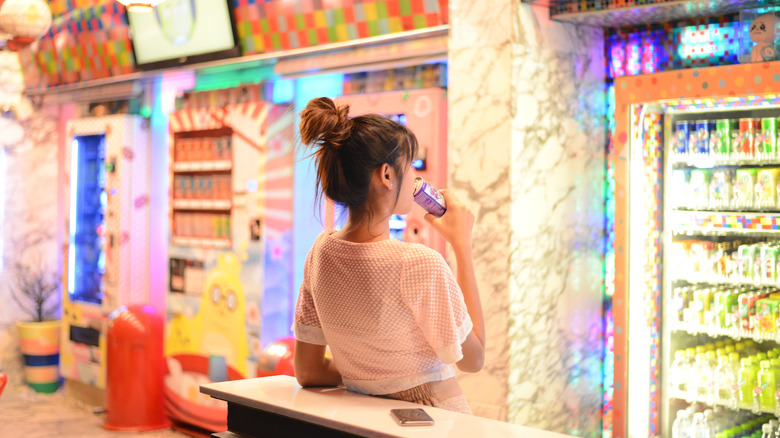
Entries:
POLYGON ((441 254, 397 240, 354 243, 325 230, 304 265, 295 338, 328 345, 347 389, 382 395, 455 375, 472 329, 441 254))

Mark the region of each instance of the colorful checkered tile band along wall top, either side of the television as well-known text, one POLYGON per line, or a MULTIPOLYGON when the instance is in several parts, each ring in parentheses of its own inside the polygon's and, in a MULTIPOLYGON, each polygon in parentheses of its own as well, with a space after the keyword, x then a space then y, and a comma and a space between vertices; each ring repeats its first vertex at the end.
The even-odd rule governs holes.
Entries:
MULTIPOLYGON (((243 55, 312 47, 446 24, 447 0, 231 0, 243 55)), ((20 52, 27 88, 136 71, 116 0, 51 0, 54 22, 20 52)))

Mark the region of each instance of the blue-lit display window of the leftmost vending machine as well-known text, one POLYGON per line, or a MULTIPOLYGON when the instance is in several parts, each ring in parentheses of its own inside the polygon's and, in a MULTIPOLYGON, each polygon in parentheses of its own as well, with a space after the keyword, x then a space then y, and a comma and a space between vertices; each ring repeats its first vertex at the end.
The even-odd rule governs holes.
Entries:
POLYGON ((103 299, 107 194, 104 135, 73 138, 71 148, 68 293, 72 301, 103 299))

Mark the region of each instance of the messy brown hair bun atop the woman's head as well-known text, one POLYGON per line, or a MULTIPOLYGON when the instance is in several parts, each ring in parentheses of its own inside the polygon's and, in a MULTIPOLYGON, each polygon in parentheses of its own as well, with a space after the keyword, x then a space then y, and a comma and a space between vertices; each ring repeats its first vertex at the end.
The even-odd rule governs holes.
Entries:
POLYGON ((328 97, 312 99, 301 111, 301 141, 340 148, 352 134, 349 105, 336 105, 328 97))

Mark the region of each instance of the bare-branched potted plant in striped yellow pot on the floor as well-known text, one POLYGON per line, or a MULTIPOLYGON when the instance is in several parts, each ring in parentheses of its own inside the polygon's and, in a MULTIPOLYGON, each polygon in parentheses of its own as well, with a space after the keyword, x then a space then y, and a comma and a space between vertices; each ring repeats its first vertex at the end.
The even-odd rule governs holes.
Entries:
POLYGON ((17 323, 27 384, 52 393, 60 386, 60 277, 40 263, 12 265, 11 297, 28 319, 17 323))

